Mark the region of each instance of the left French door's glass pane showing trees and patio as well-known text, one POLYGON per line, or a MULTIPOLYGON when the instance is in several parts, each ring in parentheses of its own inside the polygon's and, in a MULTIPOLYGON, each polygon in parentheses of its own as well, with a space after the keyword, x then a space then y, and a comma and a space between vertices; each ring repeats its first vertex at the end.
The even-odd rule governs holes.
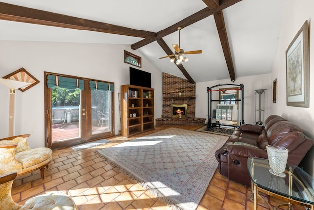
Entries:
POLYGON ((80 93, 52 88, 52 143, 80 137, 80 93))

